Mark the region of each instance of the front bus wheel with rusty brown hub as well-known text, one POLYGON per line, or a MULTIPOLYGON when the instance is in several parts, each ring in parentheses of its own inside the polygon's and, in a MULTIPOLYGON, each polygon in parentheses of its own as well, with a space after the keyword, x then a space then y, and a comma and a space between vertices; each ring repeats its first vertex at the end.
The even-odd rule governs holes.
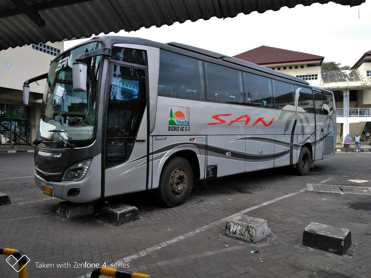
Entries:
POLYGON ((184 203, 191 193, 193 172, 190 163, 179 156, 170 158, 160 176, 157 198, 162 205, 173 208, 184 203))

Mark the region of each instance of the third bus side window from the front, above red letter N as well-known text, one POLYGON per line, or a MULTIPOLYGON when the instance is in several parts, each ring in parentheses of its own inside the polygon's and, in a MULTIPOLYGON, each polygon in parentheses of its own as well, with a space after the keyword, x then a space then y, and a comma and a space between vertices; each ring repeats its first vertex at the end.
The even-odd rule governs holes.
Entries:
POLYGON ((243 73, 245 80, 245 104, 257 107, 273 107, 272 85, 270 78, 243 73))

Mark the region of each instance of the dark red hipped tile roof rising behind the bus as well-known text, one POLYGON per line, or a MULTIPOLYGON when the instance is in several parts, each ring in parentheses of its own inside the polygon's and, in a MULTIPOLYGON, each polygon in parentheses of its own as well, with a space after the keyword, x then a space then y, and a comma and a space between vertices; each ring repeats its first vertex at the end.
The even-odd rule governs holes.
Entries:
POLYGON ((259 65, 315 60, 320 60, 319 64, 322 64, 322 61, 325 58, 323 56, 265 45, 237 54, 233 57, 259 65))

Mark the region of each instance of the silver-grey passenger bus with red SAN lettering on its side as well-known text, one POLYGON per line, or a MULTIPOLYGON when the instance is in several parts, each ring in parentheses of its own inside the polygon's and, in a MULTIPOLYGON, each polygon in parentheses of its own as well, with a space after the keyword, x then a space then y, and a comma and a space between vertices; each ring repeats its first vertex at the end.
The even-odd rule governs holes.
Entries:
POLYGON ((335 154, 330 91, 181 43, 102 36, 50 63, 35 182, 74 203, 153 190, 186 201, 201 180, 281 166, 306 175, 335 154))

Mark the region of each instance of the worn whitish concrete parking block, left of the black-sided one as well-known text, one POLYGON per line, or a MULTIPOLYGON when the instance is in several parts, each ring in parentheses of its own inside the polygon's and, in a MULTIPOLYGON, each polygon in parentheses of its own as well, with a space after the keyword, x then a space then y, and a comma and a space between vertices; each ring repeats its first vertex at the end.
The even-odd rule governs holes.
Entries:
POLYGON ((238 215, 226 221, 224 234, 243 241, 258 243, 271 233, 270 228, 262 218, 238 215))

